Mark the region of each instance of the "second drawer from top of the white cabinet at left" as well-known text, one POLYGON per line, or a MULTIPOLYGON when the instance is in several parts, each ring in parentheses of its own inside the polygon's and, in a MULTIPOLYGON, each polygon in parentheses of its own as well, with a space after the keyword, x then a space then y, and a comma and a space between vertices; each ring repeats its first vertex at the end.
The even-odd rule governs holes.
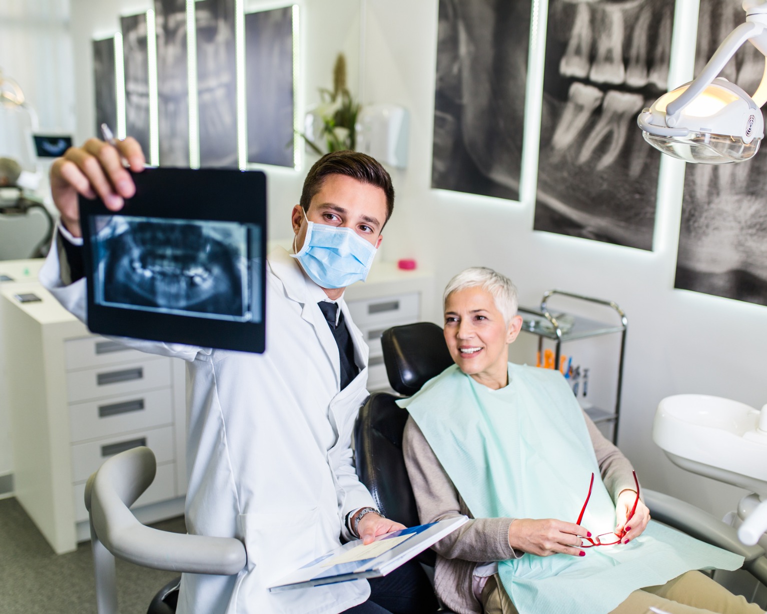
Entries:
POLYGON ((170 358, 143 358, 122 365, 67 373, 67 400, 77 403, 167 386, 170 386, 170 358))

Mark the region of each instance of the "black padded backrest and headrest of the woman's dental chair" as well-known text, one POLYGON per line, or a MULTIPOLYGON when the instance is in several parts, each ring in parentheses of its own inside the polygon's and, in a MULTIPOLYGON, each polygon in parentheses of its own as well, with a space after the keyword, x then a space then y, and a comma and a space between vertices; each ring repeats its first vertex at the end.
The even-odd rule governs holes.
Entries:
MULTIPOLYGON (((389 328, 381 345, 389 383, 406 396, 453 364, 442 328, 431 322, 389 328)), ((419 520, 402 455, 407 411, 395 401, 393 394, 377 392, 360 410, 354 438, 357 474, 386 517, 412 527, 419 520)))

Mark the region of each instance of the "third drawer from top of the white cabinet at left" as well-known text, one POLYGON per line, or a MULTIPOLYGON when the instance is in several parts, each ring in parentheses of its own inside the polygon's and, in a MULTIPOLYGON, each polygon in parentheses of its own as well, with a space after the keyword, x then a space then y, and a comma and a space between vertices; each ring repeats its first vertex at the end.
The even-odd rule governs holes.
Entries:
POLYGON ((108 437, 172 422, 170 388, 69 406, 71 441, 108 437))

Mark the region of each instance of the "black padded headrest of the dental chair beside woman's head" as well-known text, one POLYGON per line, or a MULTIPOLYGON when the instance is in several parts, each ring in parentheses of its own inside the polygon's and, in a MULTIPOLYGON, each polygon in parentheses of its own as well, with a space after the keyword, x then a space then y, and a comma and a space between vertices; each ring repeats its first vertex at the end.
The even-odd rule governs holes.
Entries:
POLYGON ((450 365, 442 328, 432 322, 416 322, 388 328, 381 336, 389 383, 410 396, 450 365))

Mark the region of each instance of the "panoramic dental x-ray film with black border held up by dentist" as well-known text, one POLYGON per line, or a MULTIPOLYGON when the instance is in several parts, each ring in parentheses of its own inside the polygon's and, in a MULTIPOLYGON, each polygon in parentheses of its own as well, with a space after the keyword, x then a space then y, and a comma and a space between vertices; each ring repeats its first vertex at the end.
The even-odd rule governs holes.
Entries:
POLYGON ((147 169, 117 213, 81 199, 88 328, 264 351, 265 177, 147 169))

